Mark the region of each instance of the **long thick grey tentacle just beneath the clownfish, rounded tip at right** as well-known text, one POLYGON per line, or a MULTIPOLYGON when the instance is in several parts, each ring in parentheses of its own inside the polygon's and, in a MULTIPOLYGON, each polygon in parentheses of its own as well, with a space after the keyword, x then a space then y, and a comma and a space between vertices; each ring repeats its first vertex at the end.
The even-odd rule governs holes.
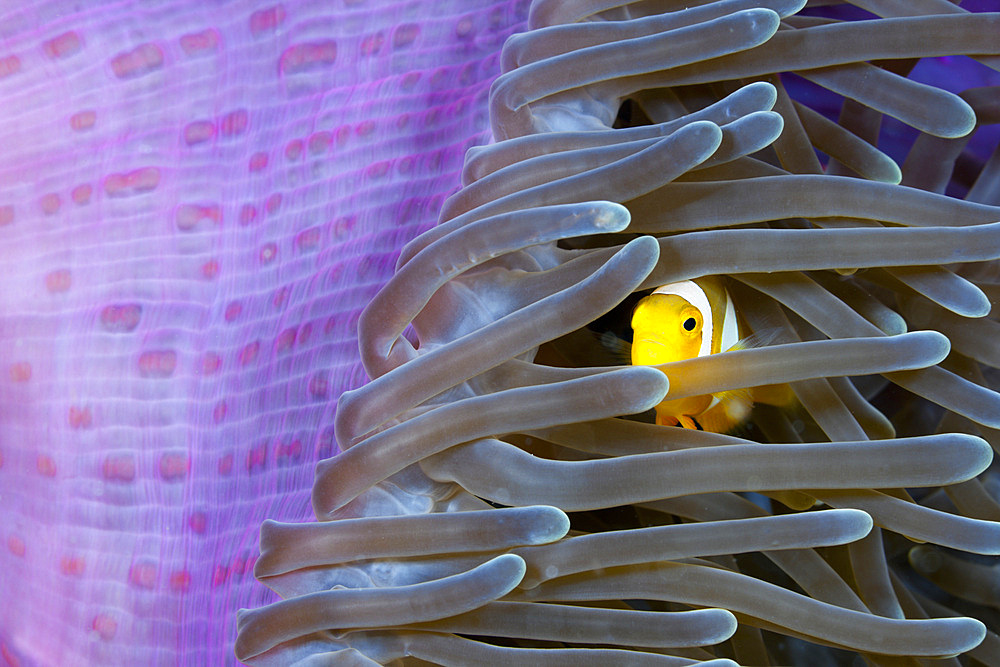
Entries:
POLYGON ((871 488, 879 484, 877 480, 886 486, 952 484, 986 467, 991 454, 985 442, 957 434, 950 438, 733 445, 594 461, 550 461, 498 440, 479 440, 429 458, 421 467, 433 479, 455 481, 477 496, 504 505, 546 503, 572 512, 725 489, 871 488), (906 452, 923 461, 887 473, 891 462, 906 452), (845 458, 850 463, 834 470, 827 464, 845 458), (925 465, 935 467, 926 469, 925 465), (748 476, 747 469, 767 472, 748 476), (624 488, 623 479, 629 480, 624 488))

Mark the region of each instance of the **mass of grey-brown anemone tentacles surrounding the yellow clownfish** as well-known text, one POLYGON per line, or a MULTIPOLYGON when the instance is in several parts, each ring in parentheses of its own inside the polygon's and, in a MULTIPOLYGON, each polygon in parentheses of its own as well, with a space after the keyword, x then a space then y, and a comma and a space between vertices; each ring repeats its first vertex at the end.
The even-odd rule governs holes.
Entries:
POLYGON ((997 67, 1000 15, 806 4, 532 4, 496 142, 358 322, 319 522, 261 530, 284 600, 241 660, 1000 661, 995 156, 943 194, 998 89, 918 81, 997 67), (637 295, 707 275, 770 344, 608 360, 637 295), (649 423, 763 385, 794 403, 733 433, 649 423))

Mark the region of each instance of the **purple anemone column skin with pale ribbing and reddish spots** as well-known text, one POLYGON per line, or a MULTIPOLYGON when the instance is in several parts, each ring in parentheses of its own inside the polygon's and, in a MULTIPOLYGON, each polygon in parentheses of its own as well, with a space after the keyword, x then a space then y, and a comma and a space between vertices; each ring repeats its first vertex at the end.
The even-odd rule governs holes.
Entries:
POLYGON ((0 664, 234 664, 518 2, 0 4, 0 664))

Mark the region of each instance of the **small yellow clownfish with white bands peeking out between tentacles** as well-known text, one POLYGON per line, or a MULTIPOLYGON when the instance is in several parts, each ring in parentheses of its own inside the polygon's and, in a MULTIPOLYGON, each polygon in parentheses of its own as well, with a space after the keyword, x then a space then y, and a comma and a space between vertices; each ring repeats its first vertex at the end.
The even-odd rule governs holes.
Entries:
MULTIPOLYGON (((740 325, 718 278, 663 285, 632 313, 632 364, 653 366, 741 349, 740 325)), ((691 396, 656 406, 656 423, 723 433, 750 414, 749 390, 691 396)))

